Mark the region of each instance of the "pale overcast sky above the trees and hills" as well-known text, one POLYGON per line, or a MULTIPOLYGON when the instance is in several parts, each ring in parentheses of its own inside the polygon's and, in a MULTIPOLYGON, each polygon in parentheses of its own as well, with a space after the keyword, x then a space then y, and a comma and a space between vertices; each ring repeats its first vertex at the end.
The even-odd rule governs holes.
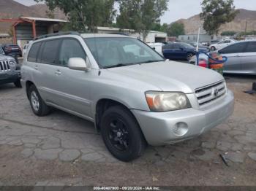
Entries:
MULTIPOLYGON (((34 0, 15 0, 25 5, 36 4, 34 0)), ((161 23, 172 23, 181 18, 192 17, 200 13, 202 0, 169 0, 168 11, 161 18, 161 23)), ((236 8, 256 10, 256 0, 235 0, 236 8)))

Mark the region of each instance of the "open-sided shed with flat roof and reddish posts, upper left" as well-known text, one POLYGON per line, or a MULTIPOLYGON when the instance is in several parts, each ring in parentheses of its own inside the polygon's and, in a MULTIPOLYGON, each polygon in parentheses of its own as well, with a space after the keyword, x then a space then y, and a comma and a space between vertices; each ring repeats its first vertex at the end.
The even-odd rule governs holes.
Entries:
POLYGON ((0 22, 12 24, 12 41, 23 47, 37 36, 59 32, 61 23, 66 20, 39 18, 39 17, 19 17, 18 19, 0 19, 0 22))

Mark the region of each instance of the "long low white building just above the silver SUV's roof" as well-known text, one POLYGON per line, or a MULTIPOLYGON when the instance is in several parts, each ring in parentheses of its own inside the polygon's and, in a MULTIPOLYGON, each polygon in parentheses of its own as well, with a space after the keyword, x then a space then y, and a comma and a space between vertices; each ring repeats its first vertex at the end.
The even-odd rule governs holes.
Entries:
MULTIPOLYGON (((138 34, 133 29, 121 29, 113 27, 97 27, 98 33, 100 34, 126 34, 129 36, 134 36, 139 39, 143 39, 142 34, 138 34)), ((159 31, 149 31, 148 36, 146 36, 146 42, 166 42, 167 34, 159 31)))

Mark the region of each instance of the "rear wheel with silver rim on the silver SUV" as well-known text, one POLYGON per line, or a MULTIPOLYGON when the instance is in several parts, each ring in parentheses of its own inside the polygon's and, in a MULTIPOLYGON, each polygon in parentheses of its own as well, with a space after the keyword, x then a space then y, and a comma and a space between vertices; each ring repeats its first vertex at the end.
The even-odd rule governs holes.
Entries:
POLYGON ((29 102, 32 111, 39 117, 45 116, 50 113, 50 107, 45 104, 45 101, 42 100, 37 87, 31 85, 29 87, 29 102))

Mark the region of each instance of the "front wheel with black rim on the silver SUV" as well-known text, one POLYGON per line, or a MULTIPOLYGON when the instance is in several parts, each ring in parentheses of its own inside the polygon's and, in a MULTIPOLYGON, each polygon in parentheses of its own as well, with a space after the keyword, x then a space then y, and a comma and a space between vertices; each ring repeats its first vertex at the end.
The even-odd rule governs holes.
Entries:
POLYGON ((103 114, 101 132, 109 152, 118 160, 135 160, 146 148, 138 122, 122 106, 112 106, 103 114))

